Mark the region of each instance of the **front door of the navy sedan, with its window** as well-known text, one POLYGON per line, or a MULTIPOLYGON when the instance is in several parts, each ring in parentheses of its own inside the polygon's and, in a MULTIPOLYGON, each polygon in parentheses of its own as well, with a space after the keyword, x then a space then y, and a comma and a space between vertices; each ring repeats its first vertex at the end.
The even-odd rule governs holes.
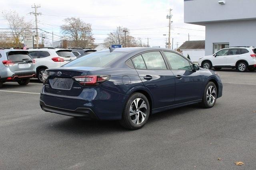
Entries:
POLYGON ((202 76, 193 64, 182 55, 164 51, 171 71, 175 76, 175 104, 201 100, 203 94, 202 76))

